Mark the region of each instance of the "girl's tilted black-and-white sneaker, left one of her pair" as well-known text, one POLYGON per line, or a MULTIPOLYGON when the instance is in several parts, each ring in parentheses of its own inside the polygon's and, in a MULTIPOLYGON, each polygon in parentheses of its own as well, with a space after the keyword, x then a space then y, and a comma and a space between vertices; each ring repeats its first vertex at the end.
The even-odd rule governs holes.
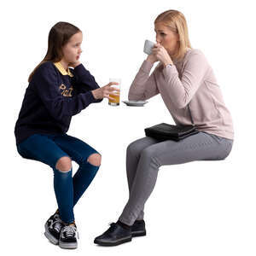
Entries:
POLYGON ((61 229, 64 226, 61 221, 59 213, 55 212, 49 217, 49 219, 44 224, 45 232, 44 236, 48 238, 53 244, 59 243, 59 238, 61 234, 61 229))

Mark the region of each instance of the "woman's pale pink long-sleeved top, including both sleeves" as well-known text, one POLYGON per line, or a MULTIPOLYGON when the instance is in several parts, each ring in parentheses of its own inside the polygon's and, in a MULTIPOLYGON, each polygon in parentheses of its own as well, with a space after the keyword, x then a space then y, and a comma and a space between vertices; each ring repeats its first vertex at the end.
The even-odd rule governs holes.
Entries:
POLYGON ((159 65, 149 75, 152 67, 151 62, 143 61, 131 84, 129 100, 148 100, 160 93, 176 125, 192 124, 190 109, 199 131, 234 139, 230 111, 212 67, 200 49, 189 49, 182 61, 172 66, 159 65))

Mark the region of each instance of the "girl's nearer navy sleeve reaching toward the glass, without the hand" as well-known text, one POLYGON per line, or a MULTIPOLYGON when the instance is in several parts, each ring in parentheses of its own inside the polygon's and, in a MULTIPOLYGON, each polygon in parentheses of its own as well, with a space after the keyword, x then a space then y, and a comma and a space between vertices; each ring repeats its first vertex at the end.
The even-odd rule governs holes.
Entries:
POLYGON ((91 91, 80 93, 73 97, 62 96, 61 84, 58 82, 55 67, 51 62, 45 62, 38 67, 32 81, 32 87, 44 103, 44 107, 56 120, 61 121, 67 116, 73 116, 81 112, 90 103, 96 102, 91 91))

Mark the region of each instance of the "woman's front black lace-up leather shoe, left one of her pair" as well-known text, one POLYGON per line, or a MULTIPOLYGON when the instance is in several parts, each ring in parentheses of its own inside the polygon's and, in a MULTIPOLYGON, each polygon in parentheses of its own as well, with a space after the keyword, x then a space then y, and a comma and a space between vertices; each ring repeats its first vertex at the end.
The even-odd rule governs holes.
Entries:
POLYGON ((131 228, 125 229, 118 223, 112 223, 107 231, 95 238, 94 243, 110 247, 117 246, 126 241, 131 241, 131 228))

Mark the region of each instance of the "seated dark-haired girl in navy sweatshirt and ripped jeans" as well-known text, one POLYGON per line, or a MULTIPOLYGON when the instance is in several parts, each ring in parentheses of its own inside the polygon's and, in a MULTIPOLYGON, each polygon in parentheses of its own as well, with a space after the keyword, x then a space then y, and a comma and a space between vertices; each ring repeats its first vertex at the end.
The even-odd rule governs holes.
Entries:
POLYGON ((112 99, 109 94, 116 90, 110 87, 116 83, 100 88, 80 63, 82 40, 82 32, 70 23, 51 28, 47 54, 29 76, 15 125, 19 154, 53 169, 58 209, 46 221, 44 235, 62 248, 77 247, 73 207, 101 165, 96 149, 67 135, 72 116, 103 97, 112 99), (79 164, 74 176, 72 160, 79 164))

